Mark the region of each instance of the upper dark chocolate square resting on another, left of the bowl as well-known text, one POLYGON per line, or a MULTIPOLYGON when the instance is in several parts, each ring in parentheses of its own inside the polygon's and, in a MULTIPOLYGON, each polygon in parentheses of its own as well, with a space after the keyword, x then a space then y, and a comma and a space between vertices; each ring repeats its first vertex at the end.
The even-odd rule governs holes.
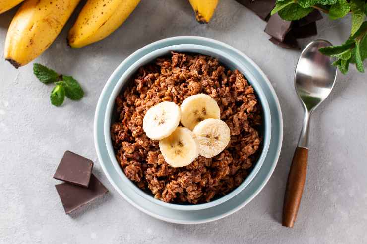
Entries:
POLYGON ((54 178, 82 187, 88 187, 93 162, 71 151, 65 151, 54 178))

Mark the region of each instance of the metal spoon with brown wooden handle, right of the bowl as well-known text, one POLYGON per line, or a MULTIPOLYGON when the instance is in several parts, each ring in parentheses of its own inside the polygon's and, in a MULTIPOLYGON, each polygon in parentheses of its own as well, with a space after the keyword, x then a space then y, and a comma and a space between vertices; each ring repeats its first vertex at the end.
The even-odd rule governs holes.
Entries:
POLYGON ((331 46, 331 43, 325 40, 309 43, 302 51, 296 67, 295 88, 303 104, 305 117, 284 195, 282 225, 286 227, 293 227, 296 221, 305 186, 310 116, 329 96, 336 80, 337 70, 332 65, 333 58, 318 51, 319 48, 327 46, 331 46))

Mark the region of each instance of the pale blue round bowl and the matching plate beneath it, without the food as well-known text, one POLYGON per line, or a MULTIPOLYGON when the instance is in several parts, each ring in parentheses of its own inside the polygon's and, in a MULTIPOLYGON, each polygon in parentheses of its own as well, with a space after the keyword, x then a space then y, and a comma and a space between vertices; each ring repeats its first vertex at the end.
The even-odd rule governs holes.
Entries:
POLYGON ((164 221, 196 224, 228 216, 245 206, 265 186, 279 158, 283 120, 278 98, 260 68, 245 54, 222 42, 194 36, 163 39, 138 49, 113 72, 99 98, 94 119, 94 142, 101 167, 114 188, 141 211, 164 221), (245 181, 232 192, 202 204, 174 204, 155 199, 140 190, 122 172, 112 146, 110 127, 115 98, 137 69, 171 51, 215 57, 231 70, 238 69, 254 88, 263 109, 263 148, 245 181))

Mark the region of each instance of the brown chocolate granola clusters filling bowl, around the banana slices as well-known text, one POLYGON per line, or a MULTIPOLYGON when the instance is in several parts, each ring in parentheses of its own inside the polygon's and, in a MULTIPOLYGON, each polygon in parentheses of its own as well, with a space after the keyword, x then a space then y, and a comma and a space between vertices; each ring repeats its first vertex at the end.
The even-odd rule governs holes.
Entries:
POLYGON ((261 151, 261 105, 252 86, 241 72, 209 56, 172 52, 170 57, 140 67, 116 98, 116 112, 111 137, 123 172, 139 188, 149 189, 165 202, 196 204, 229 193, 245 180, 261 151), (199 156, 188 166, 173 168, 165 162, 159 141, 145 135, 143 117, 159 102, 180 106, 198 93, 217 101, 231 141, 213 158, 199 156))

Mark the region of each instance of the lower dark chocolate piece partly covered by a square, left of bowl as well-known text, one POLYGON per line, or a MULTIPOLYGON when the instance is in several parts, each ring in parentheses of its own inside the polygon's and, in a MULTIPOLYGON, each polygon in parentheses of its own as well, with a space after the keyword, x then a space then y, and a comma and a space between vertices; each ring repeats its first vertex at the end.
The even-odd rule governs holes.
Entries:
POLYGON ((93 174, 90 177, 88 188, 68 183, 61 183, 55 187, 66 214, 75 211, 108 192, 107 188, 93 174))

